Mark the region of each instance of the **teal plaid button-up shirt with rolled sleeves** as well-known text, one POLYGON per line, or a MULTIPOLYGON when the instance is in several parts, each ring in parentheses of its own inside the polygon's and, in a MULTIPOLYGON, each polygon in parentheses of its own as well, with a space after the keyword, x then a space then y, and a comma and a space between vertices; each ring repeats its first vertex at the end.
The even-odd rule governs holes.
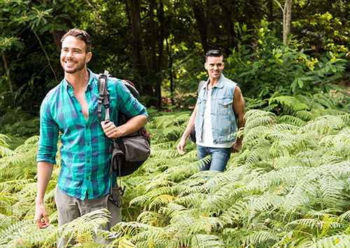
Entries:
MULTIPOLYGON (((90 80, 85 91, 89 110, 87 120, 73 88, 64 79, 48 92, 40 110, 40 140, 36 161, 56 164, 57 141, 60 148, 61 171, 58 187, 67 195, 80 200, 94 199, 107 195, 111 177, 109 165, 111 154, 101 124, 97 121, 97 74, 90 70, 90 80)), ((111 121, 117 123, 118 109, 126 116, 148 116, 146 108, 135 99, 124 83, 109 78, 111 121)), ((104 108, 103 118, 104 118, 104 108)))

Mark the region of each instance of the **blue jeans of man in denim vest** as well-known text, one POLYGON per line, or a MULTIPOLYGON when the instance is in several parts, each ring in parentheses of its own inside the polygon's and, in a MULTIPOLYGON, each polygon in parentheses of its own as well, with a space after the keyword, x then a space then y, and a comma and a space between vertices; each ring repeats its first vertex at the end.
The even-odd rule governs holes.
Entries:
POLYGON ((211 155, 211 160, 204 161, 204 167, 201 167, 200 170, 217 170, 223 172, 231 156, 231 147, 213 148, 197 145, 198 160, 201 160, 208 155, 211 155))

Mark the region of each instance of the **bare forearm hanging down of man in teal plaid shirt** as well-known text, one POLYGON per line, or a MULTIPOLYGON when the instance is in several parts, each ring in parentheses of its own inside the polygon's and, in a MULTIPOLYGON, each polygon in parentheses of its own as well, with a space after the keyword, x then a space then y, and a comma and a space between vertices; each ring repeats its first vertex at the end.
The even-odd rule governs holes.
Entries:
POLYGON ((46 212, 46 207, 44 205, 43 199, 45 196, 46 188, 48 188, 48 183, 51 179, 52 169, 52 163, 38 162, 38 191, 36 193, 34 217, 34 221, 36 222, 38 228, 47 228, 48 226, 50 226, 48 213, 46 212))

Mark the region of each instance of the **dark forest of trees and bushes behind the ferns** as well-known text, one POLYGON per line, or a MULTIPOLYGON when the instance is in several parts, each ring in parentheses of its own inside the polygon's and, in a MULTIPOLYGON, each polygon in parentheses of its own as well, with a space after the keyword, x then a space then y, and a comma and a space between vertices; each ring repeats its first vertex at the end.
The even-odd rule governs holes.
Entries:
POLYGON ((349 86, 345 0, 41 0, 0 8, 5 133, 37 132, 41 101, 63 78, 60 39, 72 27, 92 36, 94 73, 129 79, 156 109, 193 106, 207 76, 204 53, 213 48, 224 51, 224 74, 247 98, 349 86))

